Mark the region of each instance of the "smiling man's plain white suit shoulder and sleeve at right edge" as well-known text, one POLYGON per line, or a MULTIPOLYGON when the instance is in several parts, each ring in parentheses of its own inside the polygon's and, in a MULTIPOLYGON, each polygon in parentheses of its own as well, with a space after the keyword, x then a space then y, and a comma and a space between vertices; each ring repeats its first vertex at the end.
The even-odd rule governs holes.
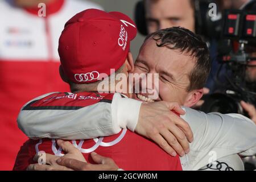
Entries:
POLYGON ((240 114, 205 114, 184 108, 181 116, 191 126, 194 140, 189 154, 181 163, 189 170, 197 170, 216 159, 232 154, 256 154, 256 125, 240 114))

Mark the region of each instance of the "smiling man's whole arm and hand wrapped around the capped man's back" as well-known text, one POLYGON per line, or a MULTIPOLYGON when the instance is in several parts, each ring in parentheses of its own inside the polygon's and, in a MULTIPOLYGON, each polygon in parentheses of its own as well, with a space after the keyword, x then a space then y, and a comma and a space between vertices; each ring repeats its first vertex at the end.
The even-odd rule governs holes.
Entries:
POLYGON ((90 139, 117 134, 127 126, 170 155, 188 153, 193 134, 174 113, 185 113, 177 103, 142 104, 121 94, 81 94, 53 93, 28 102, 20 111, 19 128, 33 139, 90 139))

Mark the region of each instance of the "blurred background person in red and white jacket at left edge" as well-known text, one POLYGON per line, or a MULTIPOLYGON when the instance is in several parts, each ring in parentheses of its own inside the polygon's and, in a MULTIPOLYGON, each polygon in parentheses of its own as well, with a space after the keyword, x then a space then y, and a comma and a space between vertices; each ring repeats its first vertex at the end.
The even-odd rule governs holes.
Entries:
POLYGON ((0 170, 12 169, 19 147, 27 140, 16 125, 19 108, 40 94, 68 89, 56 72, 58 39, 72 15, 90 8, 101 9, 75 0, 0 2, 0 170), (45 16, 39 16, 43 12, 45 16))

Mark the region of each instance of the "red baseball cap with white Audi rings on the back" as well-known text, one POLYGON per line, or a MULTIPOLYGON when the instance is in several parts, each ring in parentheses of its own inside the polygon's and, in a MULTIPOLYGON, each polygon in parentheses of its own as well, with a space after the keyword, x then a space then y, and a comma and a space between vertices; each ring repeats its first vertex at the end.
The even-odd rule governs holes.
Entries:
POLYGON ((70 81, 85 84, 109 76, 126 60, 137 28, 119 12, 82 11, 65 24, 59 39, 61 67, 70 81), (105 76, 102 75, 105 73, 105 76))

